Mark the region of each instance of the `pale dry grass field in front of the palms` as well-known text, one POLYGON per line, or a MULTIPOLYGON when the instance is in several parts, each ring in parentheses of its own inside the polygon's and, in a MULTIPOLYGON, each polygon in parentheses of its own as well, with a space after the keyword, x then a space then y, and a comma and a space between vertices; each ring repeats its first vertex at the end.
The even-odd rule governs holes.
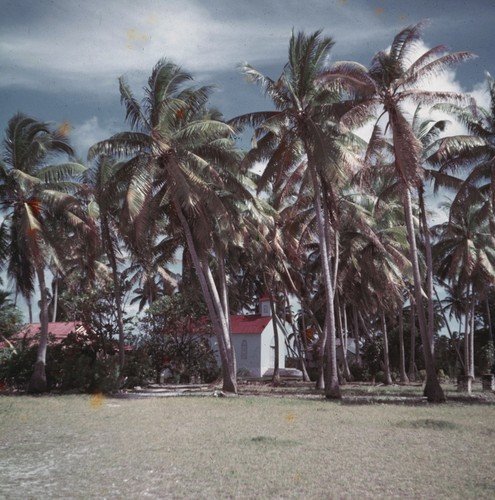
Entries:
POLYGON ((495 406, 0 397, 0 498, 495 498, 495 406))

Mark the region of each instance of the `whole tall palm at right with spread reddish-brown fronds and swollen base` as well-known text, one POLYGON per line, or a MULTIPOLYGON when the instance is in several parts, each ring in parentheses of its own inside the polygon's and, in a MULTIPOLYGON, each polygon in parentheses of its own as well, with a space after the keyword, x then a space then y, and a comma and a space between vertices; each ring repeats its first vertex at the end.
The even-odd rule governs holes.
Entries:
MULTIPOLYGON (((412 191, 420 185, 423 175, 422 145, 406 119, 404 103, 412 101, 417 104, 432 104, 465 100, 458 93, 424 90, 420 84, 473 55, 469 52, 448 54, 446 48, 440 45, 411 62, 417 42, 421 40, 423 27, 424 23, 418 23, 398 33, 388 51, 378 52, 373 57, 368 70, 357 63, 336 64, 322 76, 322 82, 328 86, 344 88, 352 95, 358 94, 361 97, 360 104, 344 116, 343 126, 361 125, 363 120, 369 119, 370 115, 379 110, 388 117, 395 168, 402 184, 414 294, 425 356, 427 381, 424 393, 428 400, 440 402, 445 400, 445 396, 438 382, 429 340, 412 211, 412 191)), ((433 297, 429 300, 433 300, 433 297)))

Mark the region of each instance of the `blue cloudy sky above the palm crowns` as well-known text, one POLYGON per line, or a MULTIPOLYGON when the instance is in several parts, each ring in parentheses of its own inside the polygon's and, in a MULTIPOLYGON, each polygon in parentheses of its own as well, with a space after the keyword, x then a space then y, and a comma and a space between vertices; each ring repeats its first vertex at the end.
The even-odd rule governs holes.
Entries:
POLYGON ((278 77, 292 30, 322 30, 331 61, 368 65, 404 27, 428 19, 423 50, 445 44, 478 57, 432 87, 471 92, 487 102, 484 72, 495 75, 495 0, 0 0, 0 127, 23 112, 69 124, 78 156, 127 130, 118 78, 136 97, 166 57, 215 84, 224 116, 270 103, 245 81, 248 62, 278 77))

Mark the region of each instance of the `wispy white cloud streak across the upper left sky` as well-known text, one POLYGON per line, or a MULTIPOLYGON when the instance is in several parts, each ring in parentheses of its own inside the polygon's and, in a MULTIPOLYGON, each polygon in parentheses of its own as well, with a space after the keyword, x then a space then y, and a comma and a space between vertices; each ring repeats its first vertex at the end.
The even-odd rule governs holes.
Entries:
POLYGON ((267 6, 221 0, 53 0, 46 5, 31 18, 23 10, 22 16, 18 12, 3 21, 0 87, 113 92, 117 76, 126 73, 132 79, 136 72, 149 73, 165 55, 203 75, 235 71, 244 60, 283 64, 293 16, 299 11, 305 25, 296 29, 319 26, 319 12, 334 15, 340 22, 332 23, 330 34, 340 52, 369 44, 393 29, 379 20, 370 23, 366 9, 342 9, 328 2, 313 2, 312 9, 298 2, 284 8, 277 2, 267 6))

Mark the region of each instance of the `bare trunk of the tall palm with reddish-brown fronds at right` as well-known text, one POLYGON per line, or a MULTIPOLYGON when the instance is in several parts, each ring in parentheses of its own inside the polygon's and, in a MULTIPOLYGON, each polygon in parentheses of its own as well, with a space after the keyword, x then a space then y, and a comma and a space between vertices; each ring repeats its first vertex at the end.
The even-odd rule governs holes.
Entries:
POLYGON ((433 358, 433 352, 431 350, 430 338, 428 335, 428 329, 426 325, 426 317, 425 317, 425 310, 423 307, 423 296, 422 296, 423 293, 422 280, 419 270, 418 253, 416 248, 416 237, 413 224, 411 192, 409 190, 409 187, 405 184, 404 184, 404 215, 406 218, 407 233, 409 237, 410 259, 413 268, 414 295, 416 298, 416 309, 419 319, 419 333, 421 335, 421 342, 423 344, 423 354, 425 359, 426 383, 424 388, 424 395, 427 397, 428 401, 432 403, 441 403, 445 401, 445 395, 438 381, 435 369, 435 359, 433 358))

